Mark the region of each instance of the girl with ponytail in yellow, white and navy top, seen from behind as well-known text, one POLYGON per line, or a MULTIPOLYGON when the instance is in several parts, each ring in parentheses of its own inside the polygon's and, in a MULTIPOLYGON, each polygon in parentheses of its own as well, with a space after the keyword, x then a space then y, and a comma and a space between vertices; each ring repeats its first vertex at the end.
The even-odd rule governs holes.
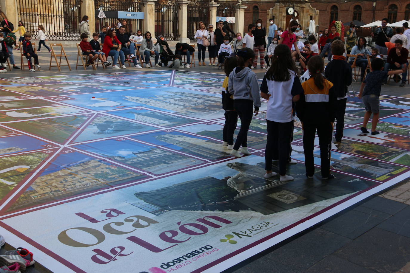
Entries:
POLYGON ((321 56, 312 56, 307 62, 310 79, 302 83, 303 93, 296 104, 296 115, 303 128, 303 151, 307 178, 314 175, 314 136, 319 138, 320 169, 322 179, 335 178, 330 174, 330 150, 332 149, 333 122, 335 122, 336 97, 333 83, 326 80, 321 56))

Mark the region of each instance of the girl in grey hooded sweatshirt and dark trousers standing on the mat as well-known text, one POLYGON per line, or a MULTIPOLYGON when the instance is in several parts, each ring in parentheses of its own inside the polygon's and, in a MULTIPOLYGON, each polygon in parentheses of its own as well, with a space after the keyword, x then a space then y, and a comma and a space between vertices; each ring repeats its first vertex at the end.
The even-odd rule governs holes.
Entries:
POLYGON ((233 95, 234 108, 241 119, 241 129, 231 151, 232 156, 241 157, 238 150, 242 146, 242 153, 250 155, 248 151, 248 129, 252 121, 252 113, 259 113, 260 96, 257 77, 250 69, 253 64, 255 53, 249 47, 238 51, 237 67, 229 74, 228 92, 233 95), (255 111, 253 111, 255 106, 255 111))

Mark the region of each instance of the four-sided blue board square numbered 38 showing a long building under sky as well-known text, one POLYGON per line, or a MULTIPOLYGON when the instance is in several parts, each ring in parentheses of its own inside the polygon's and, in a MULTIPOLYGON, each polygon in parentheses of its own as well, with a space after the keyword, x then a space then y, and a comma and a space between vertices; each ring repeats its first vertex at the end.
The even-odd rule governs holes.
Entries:
POLYGON ((154 175, 167 174, 205 163, 203 160, 181 153, 123 138, 85 143, 73 147, 154 175))

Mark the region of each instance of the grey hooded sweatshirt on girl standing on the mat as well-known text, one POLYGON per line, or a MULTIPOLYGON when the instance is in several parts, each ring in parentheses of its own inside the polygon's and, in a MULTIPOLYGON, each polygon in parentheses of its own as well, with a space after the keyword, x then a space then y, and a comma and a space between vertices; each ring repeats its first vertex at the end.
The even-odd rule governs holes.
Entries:
POLYGON ((256 110, 260 107, 259 84, 255 72, 251 68, 236 67, 228 77, 228 92, 233 99, 249 99, 256 110))

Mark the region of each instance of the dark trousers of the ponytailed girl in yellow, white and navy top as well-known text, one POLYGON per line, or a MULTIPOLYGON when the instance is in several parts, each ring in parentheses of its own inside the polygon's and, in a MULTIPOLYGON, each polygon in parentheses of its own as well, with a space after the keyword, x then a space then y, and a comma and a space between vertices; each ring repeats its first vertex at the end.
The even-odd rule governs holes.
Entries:
POLYGON ((306 174, 314 174, 314 136, 319 138, 320 168, 322 177, 330 175, 330 150, 332 149, 333 122, 306 123, 303 122, 303 150, 305 151, 306 174))

